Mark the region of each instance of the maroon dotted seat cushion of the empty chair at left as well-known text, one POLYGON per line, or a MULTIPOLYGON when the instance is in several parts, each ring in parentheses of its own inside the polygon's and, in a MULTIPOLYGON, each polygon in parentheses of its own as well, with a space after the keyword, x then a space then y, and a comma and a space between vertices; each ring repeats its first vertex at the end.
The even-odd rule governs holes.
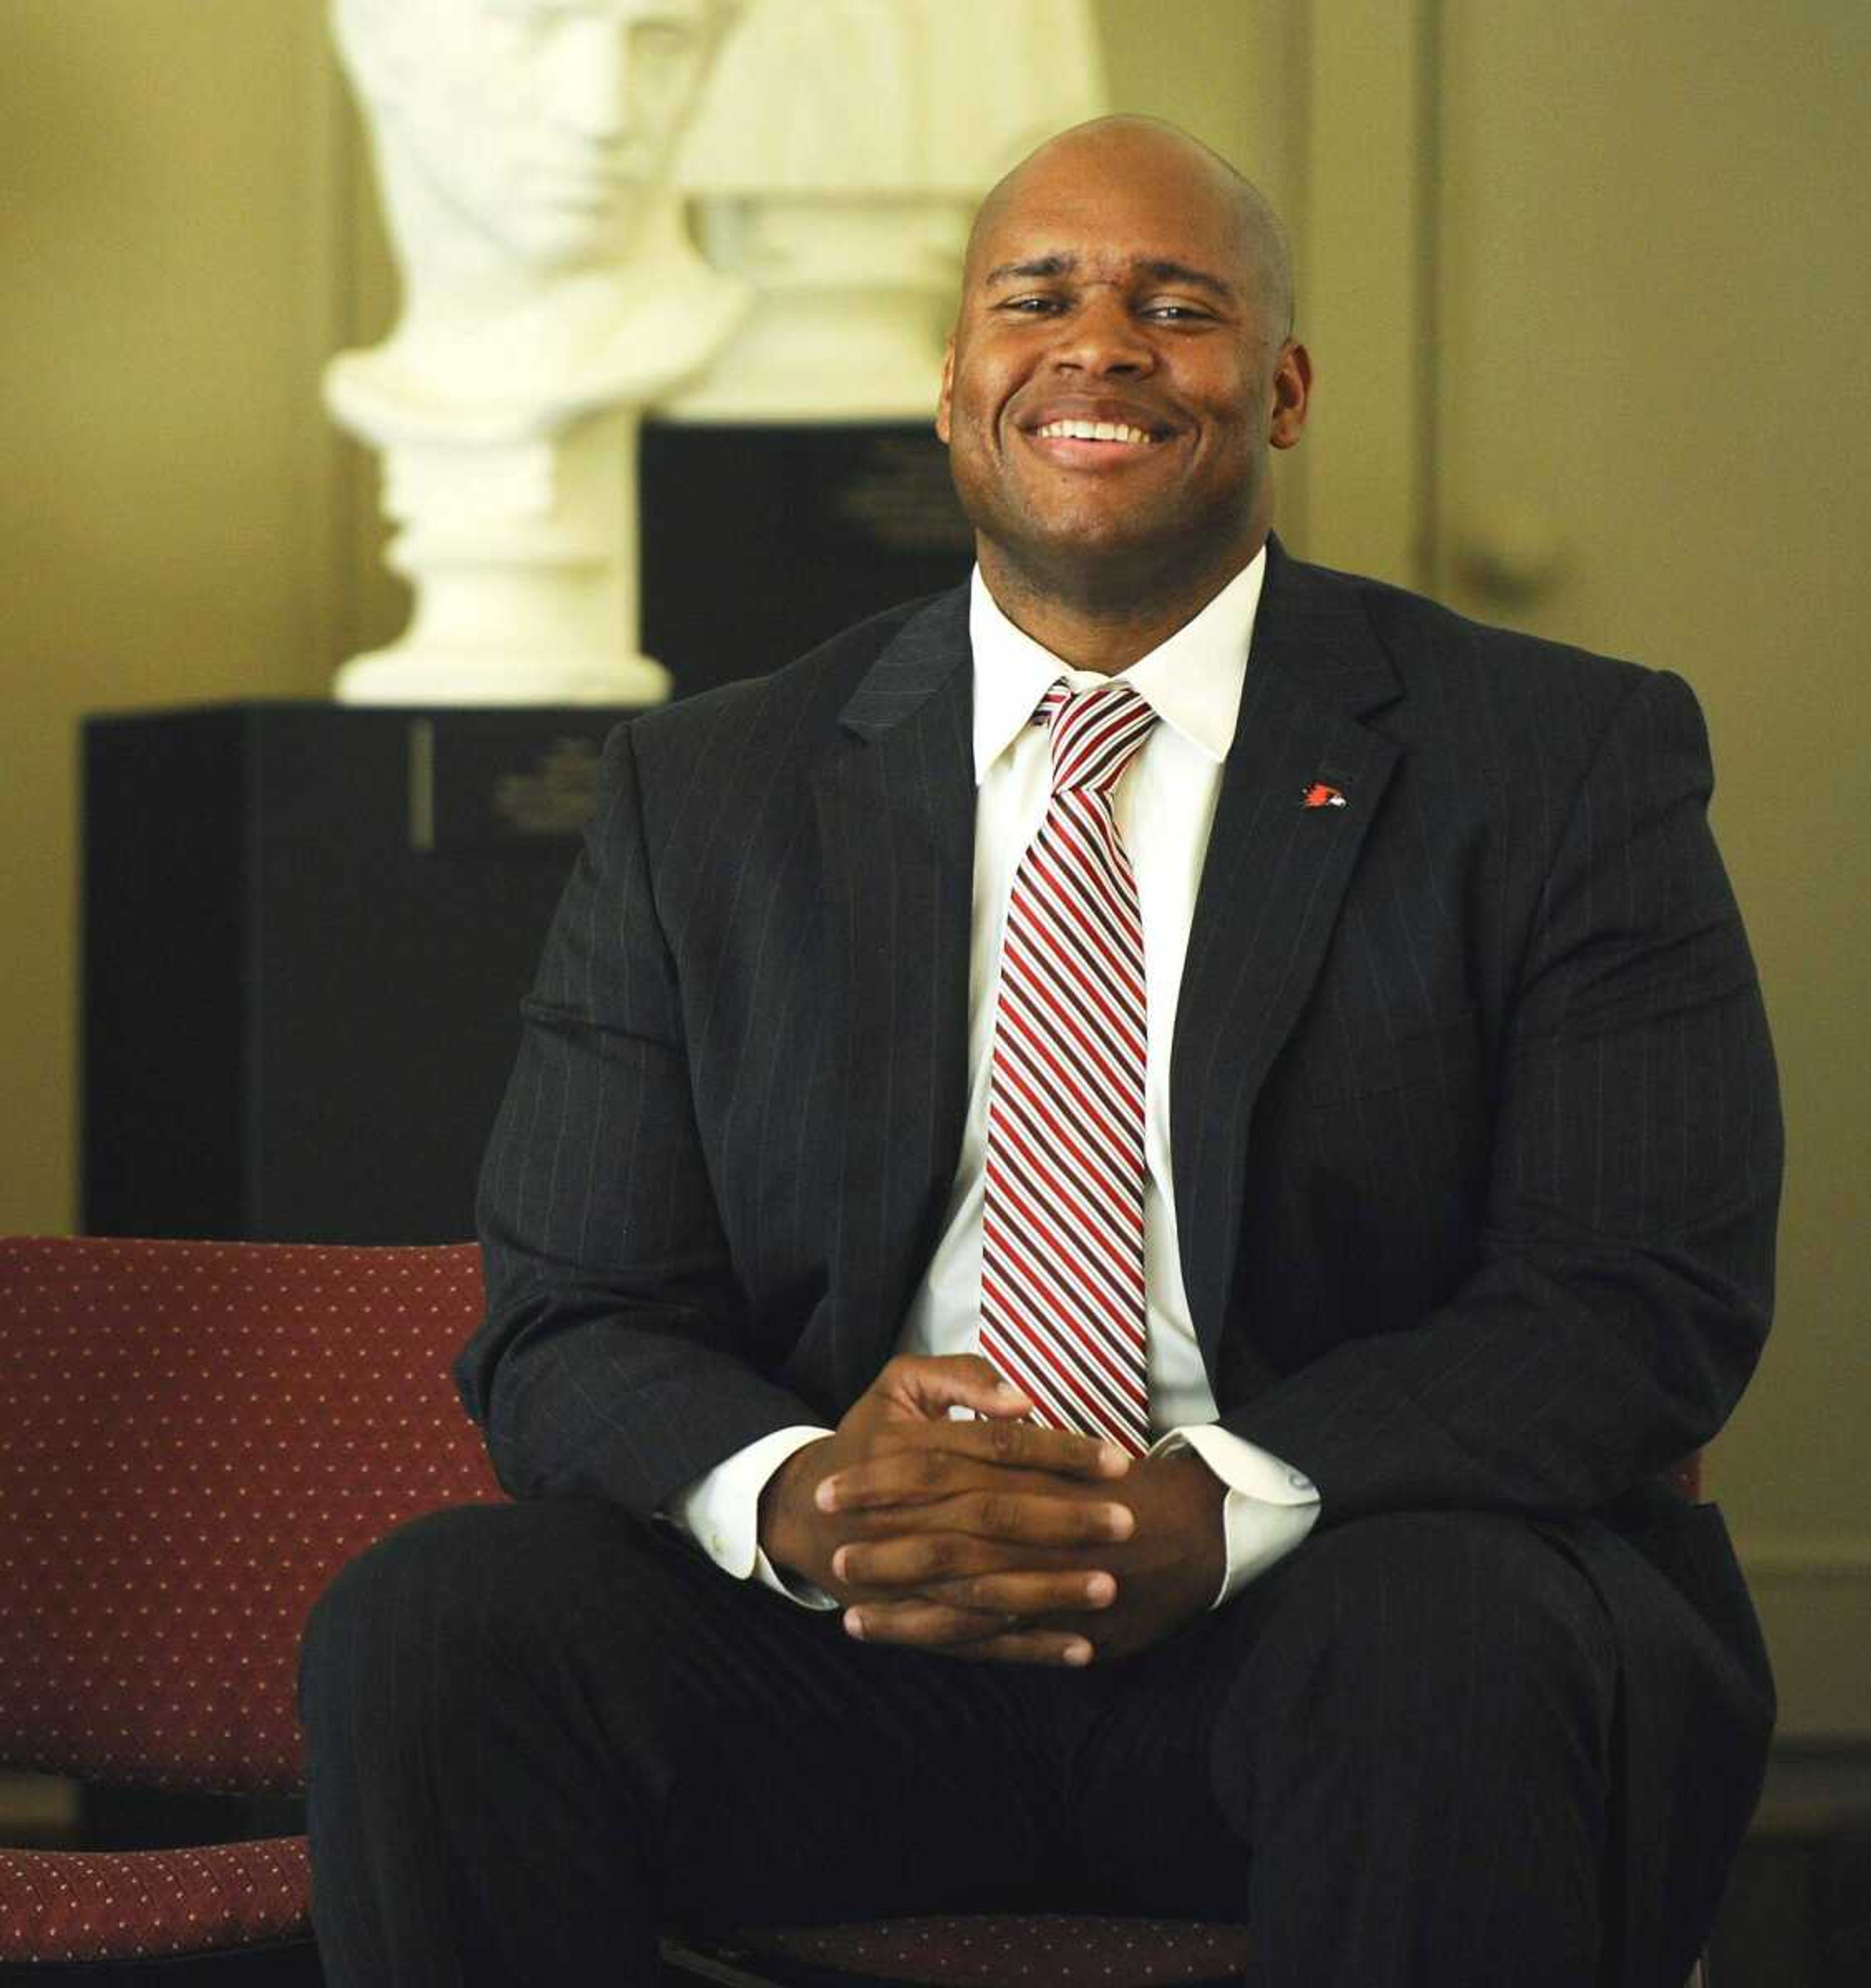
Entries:
POLYGON ((135 1960, 304 1938, 304 1837, 197 1851, 0 1849, 0 1962, 135 1960))

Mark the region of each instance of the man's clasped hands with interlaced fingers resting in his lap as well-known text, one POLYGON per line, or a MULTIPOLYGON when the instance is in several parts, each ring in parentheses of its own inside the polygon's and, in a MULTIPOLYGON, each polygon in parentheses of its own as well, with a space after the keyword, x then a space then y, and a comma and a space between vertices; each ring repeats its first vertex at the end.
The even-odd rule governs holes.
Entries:
POLYGON ((1030 1411, 974 1354, 891 1360, 767 1481, 767 1559, 843 1602, 865 1642, 986 1662, 1104 1662, 1201 1614, 1227 1561, 1221 1479, 1189 1451, 1129 1457, 1030 1411))

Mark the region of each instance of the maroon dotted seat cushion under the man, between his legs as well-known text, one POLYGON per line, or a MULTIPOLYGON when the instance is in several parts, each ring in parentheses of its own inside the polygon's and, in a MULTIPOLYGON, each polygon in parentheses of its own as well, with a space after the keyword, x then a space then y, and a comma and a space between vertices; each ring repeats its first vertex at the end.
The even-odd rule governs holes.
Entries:
POLYGON ((837 1976, 956 1988, 1153 1988, 1239 1980, 1247 1928, 1193 1918, 927 1914, 744 1932, 710 1948, 787 1982, 837 1976))

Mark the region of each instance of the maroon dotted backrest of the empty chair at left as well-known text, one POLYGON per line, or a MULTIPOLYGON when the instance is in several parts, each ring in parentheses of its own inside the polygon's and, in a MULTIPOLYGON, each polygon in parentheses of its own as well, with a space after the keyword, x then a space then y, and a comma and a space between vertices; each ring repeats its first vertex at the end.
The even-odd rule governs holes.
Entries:
POLYGON ((294 1791, 306 1614, 499 1489, 449 1364, 479 1254, 0 1242, 0 1759, 294 1791))

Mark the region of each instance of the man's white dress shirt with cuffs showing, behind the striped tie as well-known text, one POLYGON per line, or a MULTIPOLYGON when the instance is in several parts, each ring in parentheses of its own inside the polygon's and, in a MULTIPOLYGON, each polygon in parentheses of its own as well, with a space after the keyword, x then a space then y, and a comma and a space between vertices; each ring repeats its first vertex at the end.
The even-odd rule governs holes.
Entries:
MULTIPOLYGON (((1191 1447, 1229 1487, 1223 1501, 1227 1574, 1217 1606, 1284 1559, 1312 1529, 1318 1493, 1304 1473, 1215 1425, 1177 1252, 1169 1167, 1169 1048, 1195 916, 1195 891, 1235 738, 1247 650, 1267 571, 1265 551, 1195 620, 1133 662, 1123 680, 1161 720, 1113 795, 1143 916, 1147 1070, 1143 1159, 1143 1282, 1147 1306, 1151 1455, 1191 1447)), ((980 1211, 988 1141, 988 1070, 1000 978, 1000 934, 1014 869, 1052 795, 1048 734, 1032 724, 1046 690, 1092 690, 1107 678, 1068 668, 994 604, 980 569, 968 602, 974 650, 974 924, 968 960, 968 1117, 942 1239, 897 1338, 905 1354, 978 1352, 980 1211)), ((726 1573, 760 1578, 805 1606, 835 1606, 793 1586, 760 1551, 760 1493, 821 1427, 775 1429, 718 1463, 670 1501, 670 1517, 726 1573)), ((1113 1495, 1121 1495, 1117 1485, 1113 1495)))

